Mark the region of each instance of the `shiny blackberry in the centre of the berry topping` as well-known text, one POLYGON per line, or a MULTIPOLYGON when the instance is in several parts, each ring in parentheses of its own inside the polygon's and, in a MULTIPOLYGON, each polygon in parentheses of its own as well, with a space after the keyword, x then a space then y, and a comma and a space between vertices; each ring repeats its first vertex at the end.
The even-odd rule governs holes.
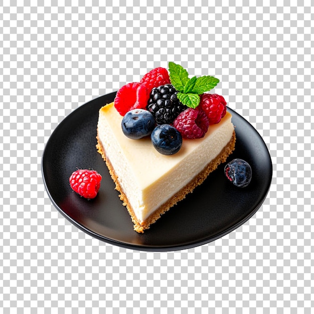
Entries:
POLYGON ((152 113, 157 124, 171 124, 179 113, 187 108, 179 101, 177 93, 172 84, 151 90, 146 109, 152 113))

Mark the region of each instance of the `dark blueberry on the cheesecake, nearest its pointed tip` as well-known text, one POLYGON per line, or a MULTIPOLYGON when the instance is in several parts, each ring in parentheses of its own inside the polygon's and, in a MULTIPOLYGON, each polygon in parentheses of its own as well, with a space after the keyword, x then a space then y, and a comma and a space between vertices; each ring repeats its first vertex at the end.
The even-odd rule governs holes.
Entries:
POLYGON ((173 155, 182 146, 180 132, 169 124, 156 126, 151 132, 150 138, 155 149, 164 155, 173 155))

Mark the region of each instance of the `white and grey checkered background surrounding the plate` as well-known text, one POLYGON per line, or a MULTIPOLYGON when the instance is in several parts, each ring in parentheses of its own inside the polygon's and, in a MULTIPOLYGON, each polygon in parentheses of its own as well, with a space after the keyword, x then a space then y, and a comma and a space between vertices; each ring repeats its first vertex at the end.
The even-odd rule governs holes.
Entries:
POLYGON ((310 313, 310 1, 3 3, 0 312, 310 313), (269 148, 269 194, 240 228, 193 249, 100 242, 51 204, 41 174, 45 143, 77 107, 168 61, 221 80, 215 91, 269 148))

